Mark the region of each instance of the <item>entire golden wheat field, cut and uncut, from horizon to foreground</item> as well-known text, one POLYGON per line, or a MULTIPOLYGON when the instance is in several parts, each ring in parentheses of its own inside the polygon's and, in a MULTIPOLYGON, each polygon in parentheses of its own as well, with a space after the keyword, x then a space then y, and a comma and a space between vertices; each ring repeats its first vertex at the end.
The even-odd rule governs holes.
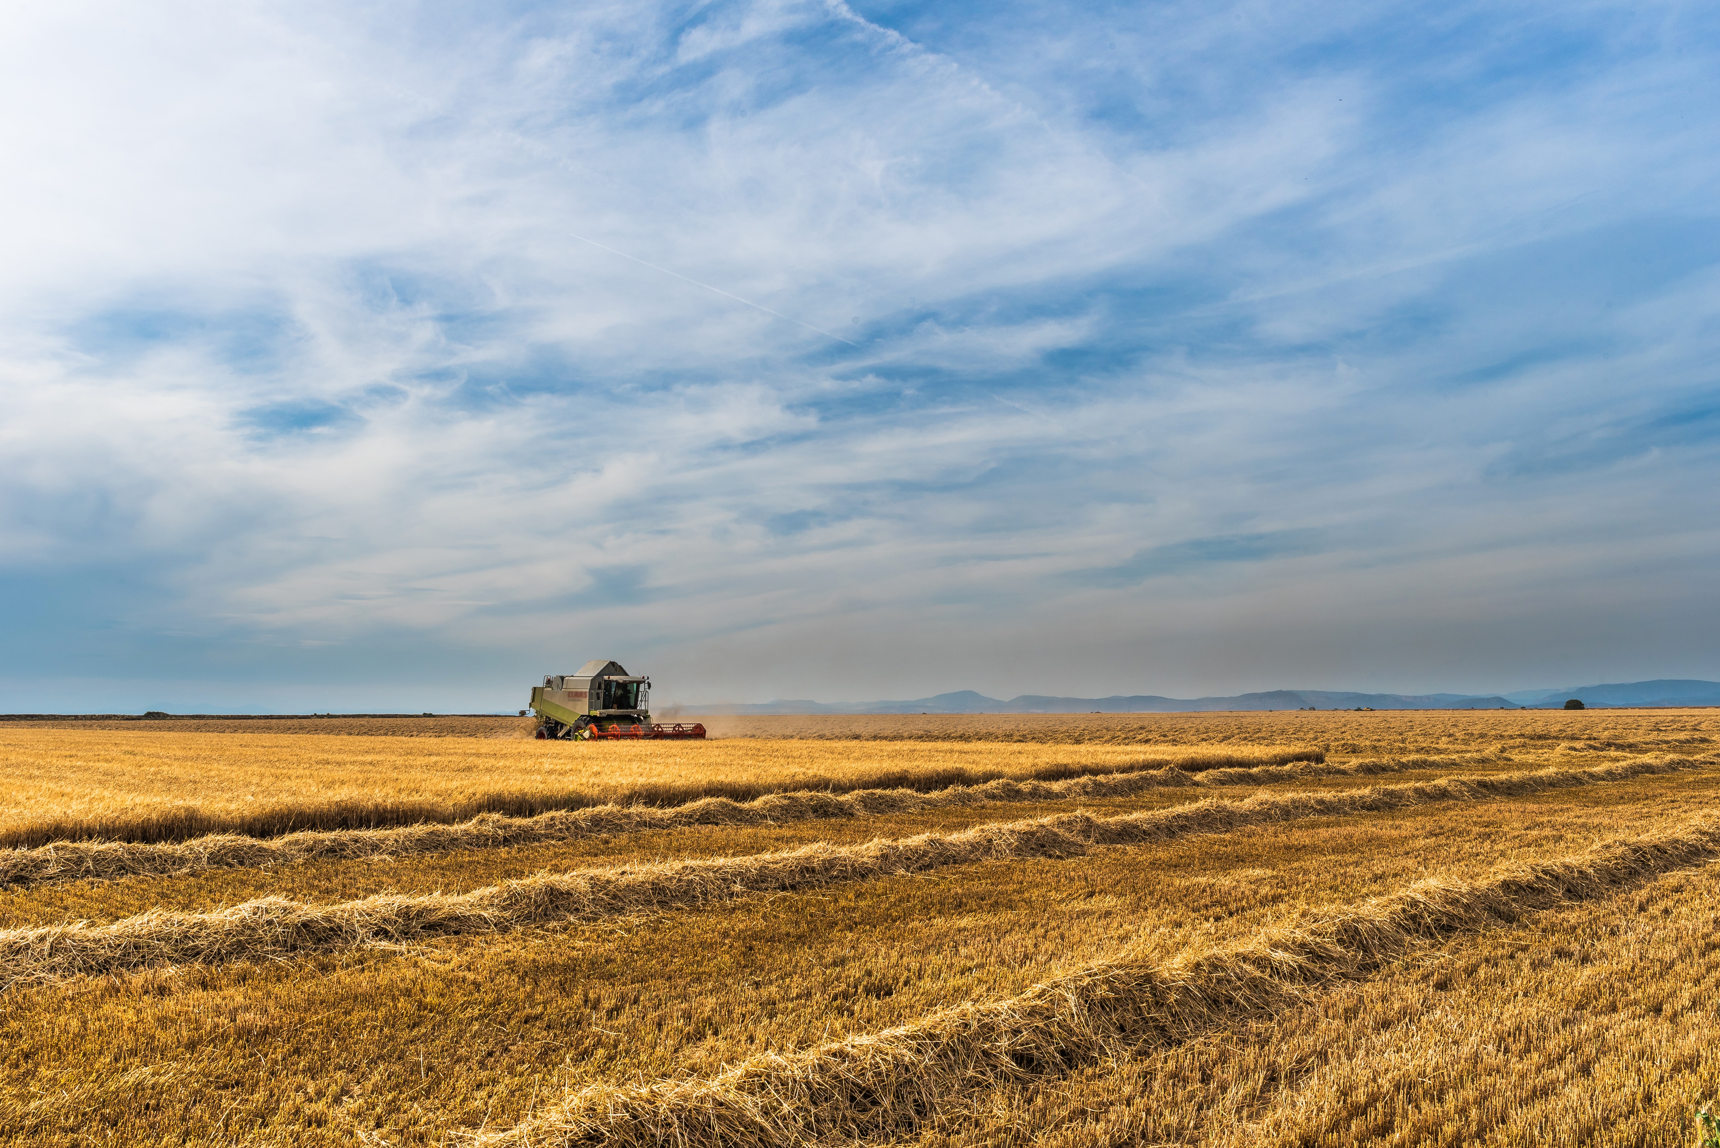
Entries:
POLYGON ((1075 717, 7 725, 0 1143, 1692 1143, 1720 715, 1075 717))

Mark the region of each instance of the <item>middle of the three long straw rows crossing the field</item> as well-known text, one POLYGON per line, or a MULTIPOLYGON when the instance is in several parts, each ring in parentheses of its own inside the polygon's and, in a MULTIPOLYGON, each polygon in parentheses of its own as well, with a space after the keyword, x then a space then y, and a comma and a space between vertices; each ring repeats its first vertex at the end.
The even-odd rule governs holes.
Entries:
POLYGON ((1434 803, 1522 797, 1703 765, 1692 758, 1637 760, 1588 770, 1453 777, 1348 792, 1206 799, 1109 818, 1072 813, 863 846, 814 844, 743 858, 580 870, 468 894, 384 894, 332 906, 267 897, 201 914, 151 909, 112 925, 79 921, 0 930, 0 986, 184 962, 282 959, 373 943, 686 909, 750 892, 819 888, 979 861, 1072 858, 1097 846, 1139 846, 1254 825, 1434 803))

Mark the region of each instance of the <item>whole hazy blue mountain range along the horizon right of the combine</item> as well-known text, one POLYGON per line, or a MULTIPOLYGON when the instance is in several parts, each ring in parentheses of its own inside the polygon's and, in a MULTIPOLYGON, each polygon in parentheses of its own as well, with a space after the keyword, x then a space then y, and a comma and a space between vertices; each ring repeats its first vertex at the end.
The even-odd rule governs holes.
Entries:
POLYGON ((1330 689, 1271 689, 1228 698, 1049 698, 1020 694, 987 698, 972 689, 912 698, 908 701, 764 701, 679 706, 685 713, 1211 713, 1214 710, 1558 710, 1567 698, 1591 708, 1613 706, 1720 706, 1720 682, 1656 679, 1612 686, 1524 689, 1510 694, 1359 694, 1330 689))

